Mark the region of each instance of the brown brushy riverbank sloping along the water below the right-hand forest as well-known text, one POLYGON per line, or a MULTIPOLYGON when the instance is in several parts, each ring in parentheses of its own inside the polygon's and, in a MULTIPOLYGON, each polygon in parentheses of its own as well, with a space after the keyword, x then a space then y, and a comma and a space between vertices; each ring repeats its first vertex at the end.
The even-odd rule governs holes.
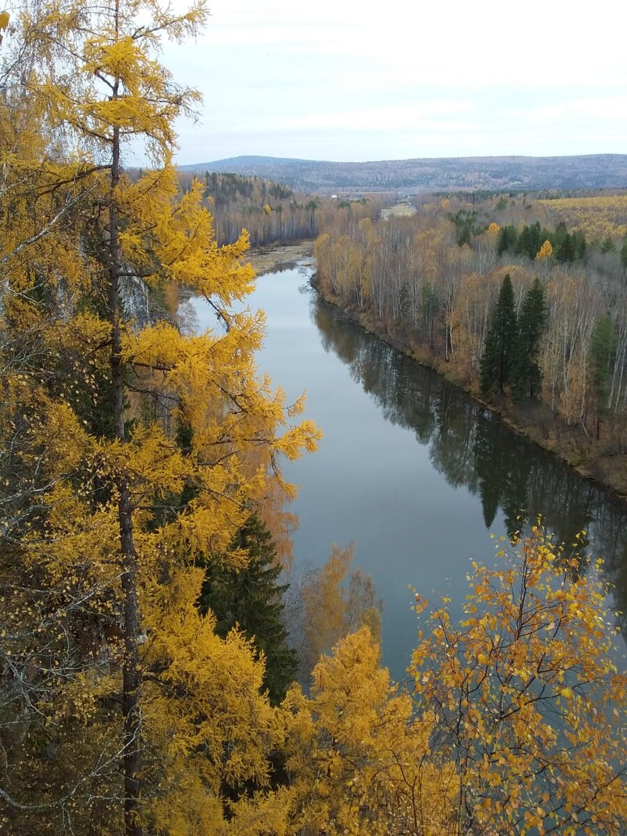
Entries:
POLYGON ((595 445, 592 441, 588 450, 582 449, 579 431, 577 429, 575 431, 571 430, 562 421, 555 420, 553 416, 549 417, 547 410, 541 405, 527 409, 515 407, 517 411, 514 413, 511 405, 506 402, 496 404, 492 401, 483 400, 478 390, 469 385, 466 380, 461 379, 460 375, 455 373, 455 370, 451 370, 446 361, 430 354, 426 348, 413 349, 403 339, 402 335, 391 332, 390 329, 385 327, 385 324, 377 322, 370 312, 347 306, 341 298, 330 293, 324 293, 315 276, 312 278, 311 284, 326 302, 343 311, 352 322, 358 324, 364 331, 373 334, 377 339, 381 339, 385 344, 414 360, 415 363, 435 371, 452 385, 464 390, 477 403, 499 415, 503 423, 512 431, 528 438, 529 441, 533 441, 534 444, 553 453, 554 456, 558 456, 579 476, 596 482, 614 494, 615 497, 627 501, 626 455, 604 456, 599 454, 600 445, 595 445), (532 423, 534 418, 537 423, 532 423))

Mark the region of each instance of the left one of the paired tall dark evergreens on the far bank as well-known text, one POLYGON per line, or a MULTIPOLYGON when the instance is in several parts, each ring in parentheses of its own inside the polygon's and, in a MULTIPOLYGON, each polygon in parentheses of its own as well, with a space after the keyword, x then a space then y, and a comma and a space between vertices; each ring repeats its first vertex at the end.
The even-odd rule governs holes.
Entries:
POLYGON ((516 308, 509 273, 502 280, 497 306, 487 332, 479 377, 482 395, 498 391, 505 394, 505 386, 512 377, 512 361, 517 343, 516 308))

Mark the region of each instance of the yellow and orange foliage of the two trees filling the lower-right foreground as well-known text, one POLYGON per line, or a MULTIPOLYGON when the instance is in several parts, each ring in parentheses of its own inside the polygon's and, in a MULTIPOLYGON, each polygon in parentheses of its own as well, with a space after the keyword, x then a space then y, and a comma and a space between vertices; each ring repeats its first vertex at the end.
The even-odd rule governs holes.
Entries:
POLYGON ((537 526, 472 564, 461 624, 421 619, 394 686, 367 628, 288 692, 287 767, 306 833, 621 833, 625 677, 604 584, 537 526))

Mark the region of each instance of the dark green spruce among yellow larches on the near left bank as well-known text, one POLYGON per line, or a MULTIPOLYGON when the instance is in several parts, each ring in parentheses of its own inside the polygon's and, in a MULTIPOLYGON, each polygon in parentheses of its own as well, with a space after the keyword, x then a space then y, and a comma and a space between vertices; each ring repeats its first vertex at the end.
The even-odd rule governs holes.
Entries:
POLYGON ((211 609, 217 619, 216 632, 222 638, 234 627, 252 639, 257 653, 265 656, 263 685, 270 701, 278 705, 296 678, 298 658, 288 647, 288 630, 283 624, 283 592, 278 584, 281 566, 268 528, 255 515, 237 535, 233 549, 247 552, 247 564, 237 568, 232 561, 212 561, 205 568, 200 609, 211 609))

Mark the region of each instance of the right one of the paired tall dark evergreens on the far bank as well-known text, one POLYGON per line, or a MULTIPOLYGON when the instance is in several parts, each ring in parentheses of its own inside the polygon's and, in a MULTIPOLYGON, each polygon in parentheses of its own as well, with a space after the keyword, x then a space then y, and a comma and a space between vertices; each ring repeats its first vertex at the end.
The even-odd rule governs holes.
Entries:
POLYGON ((536 277, 525 294, 518 319, 517 345, 512 362, 512 392, 517 399, 535 398, 540 393, 542 371, 538 365, 538 349, 547 314, 544 285, 536 277))

